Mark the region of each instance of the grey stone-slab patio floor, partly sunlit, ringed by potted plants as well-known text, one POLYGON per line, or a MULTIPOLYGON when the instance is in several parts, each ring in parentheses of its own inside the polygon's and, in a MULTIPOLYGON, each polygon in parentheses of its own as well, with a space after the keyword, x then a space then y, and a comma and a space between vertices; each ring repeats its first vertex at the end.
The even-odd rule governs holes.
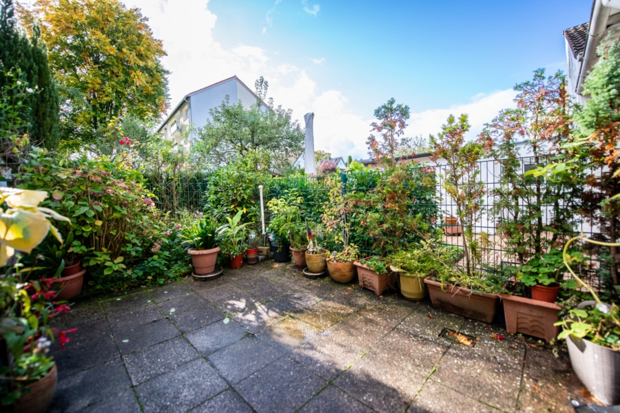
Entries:
MULTIPOLYGON (((53 320, 50 412, 572 412, 568 358, 499 325, 267 261, 53 320), (467 347, 442 329, 477 337, 467 347), (503 335, 499 340, 494 334, 503 335)), ((592 401, 589 401, 592 403, 592 401)))

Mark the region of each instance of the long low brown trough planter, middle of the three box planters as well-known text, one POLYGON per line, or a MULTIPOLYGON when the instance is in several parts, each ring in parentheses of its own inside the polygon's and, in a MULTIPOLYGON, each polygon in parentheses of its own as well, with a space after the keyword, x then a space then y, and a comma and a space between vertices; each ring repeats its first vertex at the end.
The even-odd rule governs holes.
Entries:
POLYGON ((442 291, 442 283, 428 278, 424 282, 428 285, 433 307, 484 323, 493 322, 499 304, 497 294, 476 294, 467 288, 450 285, 444 285, 442 291))

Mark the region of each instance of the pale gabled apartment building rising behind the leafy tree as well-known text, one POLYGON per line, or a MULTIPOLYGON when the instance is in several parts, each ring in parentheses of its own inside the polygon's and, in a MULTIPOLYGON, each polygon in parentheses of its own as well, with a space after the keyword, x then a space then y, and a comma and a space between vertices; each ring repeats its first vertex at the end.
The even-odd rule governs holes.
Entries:
MULTIPOLYGON (((189 145, 191 146, 196 138, 194 135, 196 132, 189 129, 190 125, 192 129, 207 125, 207 121, 211 119, 209 110, 220 106, 227 95, 231 105, 241 101, 245 108, 251 107, 256 100, 260 100, 237 76, 232 76, 186 94, 158 127, 157 133, 167 140, 174 140, 180 144, 183 133, 190 130, 189 145)), ((265 110, 269 110, 265 102, 261 101, 261 105, 265 110)))

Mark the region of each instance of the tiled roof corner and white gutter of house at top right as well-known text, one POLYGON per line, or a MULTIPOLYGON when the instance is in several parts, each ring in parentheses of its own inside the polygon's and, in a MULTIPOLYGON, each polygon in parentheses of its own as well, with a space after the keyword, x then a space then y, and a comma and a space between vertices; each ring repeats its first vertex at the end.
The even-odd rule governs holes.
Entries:
POLYGON ((620 0, 594 0, 590 21, 564 30, 568 60, 568 94, 577 103, 586 100, 583 81, 599 61, 597 47, 610 35, 610 41, 620 40, 620 0))

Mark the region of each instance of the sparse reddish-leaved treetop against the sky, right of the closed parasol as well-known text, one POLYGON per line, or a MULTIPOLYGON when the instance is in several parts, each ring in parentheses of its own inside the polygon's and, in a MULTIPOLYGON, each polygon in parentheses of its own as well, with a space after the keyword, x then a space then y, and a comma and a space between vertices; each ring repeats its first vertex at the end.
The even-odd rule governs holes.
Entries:
POLYGON ((375 118, 378 122, 371 123, 372 131, 381 134, 381 140, 374 135, 369 136, 366 145, 369 147, 371 158, 381 165, 393 167, 395 157, 401 145, 398 138, 404 134, 409 119, 409 106, 396 104, 394 98, 375 109, 375 118))

